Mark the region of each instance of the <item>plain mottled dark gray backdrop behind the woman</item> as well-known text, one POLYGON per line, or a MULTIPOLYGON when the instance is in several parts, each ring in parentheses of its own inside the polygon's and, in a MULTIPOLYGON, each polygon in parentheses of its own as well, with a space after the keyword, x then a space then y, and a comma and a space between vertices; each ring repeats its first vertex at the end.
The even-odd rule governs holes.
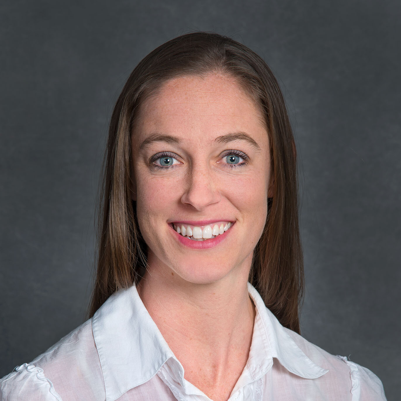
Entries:
POLYGON ((302 334, 401 393, 401 3, 0 3, 0 377, 85 319, 107 124, 156 46, 213 30, 265 58, 300 155, 302 334))

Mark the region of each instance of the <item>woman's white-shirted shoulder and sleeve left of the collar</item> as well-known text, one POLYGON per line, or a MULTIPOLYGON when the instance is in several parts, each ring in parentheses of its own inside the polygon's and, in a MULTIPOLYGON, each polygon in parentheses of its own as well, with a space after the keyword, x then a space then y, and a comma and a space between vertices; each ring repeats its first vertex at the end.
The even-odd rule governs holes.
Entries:
POLYGON ((4 401, 101 399, 102 392, 104 395, 91 319, 31 363, 0 379, 0 400, 4 401))

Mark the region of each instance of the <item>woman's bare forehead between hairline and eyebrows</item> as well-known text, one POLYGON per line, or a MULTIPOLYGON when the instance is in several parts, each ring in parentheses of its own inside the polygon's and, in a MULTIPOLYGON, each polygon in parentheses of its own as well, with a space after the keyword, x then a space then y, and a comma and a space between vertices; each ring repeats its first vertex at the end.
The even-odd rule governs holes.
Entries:
POLYGON ((140 106, 133 140, 154 133, 198 140, 228 132, 267 136, 260 106, 237 80, 211 73, 166 81, 140 106))

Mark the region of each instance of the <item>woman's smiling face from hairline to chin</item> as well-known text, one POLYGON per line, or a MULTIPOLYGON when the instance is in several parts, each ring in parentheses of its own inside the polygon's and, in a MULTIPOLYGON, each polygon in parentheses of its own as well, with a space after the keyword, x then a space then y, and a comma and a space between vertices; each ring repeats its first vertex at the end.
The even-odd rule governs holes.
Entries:
POLYGON ((132 160, 150 274, 194 284, 247 277, 271 167, 261 112, 235 79, 164 83, 141 106, 132 160))

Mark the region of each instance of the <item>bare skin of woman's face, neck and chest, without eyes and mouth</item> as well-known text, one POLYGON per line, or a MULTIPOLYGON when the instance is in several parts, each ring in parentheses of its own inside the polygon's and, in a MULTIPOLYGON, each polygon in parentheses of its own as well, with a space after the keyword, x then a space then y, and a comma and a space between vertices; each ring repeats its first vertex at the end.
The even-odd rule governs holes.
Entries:
POLYGON ((272 191, 263 117, 232 77, 174 78, 142 104, 132 160, 132 198, 149 248, 138 292, 184 377, 211 399, 227 400, 251 346, 255 307, 247 280, 272 191), (256 145, 237 137, 218 140, 239 132, 256 145), (179 143, 160 136, 150 141, 155 134, 179 143), (247 156, 241 166, 227 163, 230 150, 247 156), (152 159, 160 152, 174 158, 170 168, 152 159), (210 249, 184 246, 170 225, 201 220, 234 224, 210 249))

